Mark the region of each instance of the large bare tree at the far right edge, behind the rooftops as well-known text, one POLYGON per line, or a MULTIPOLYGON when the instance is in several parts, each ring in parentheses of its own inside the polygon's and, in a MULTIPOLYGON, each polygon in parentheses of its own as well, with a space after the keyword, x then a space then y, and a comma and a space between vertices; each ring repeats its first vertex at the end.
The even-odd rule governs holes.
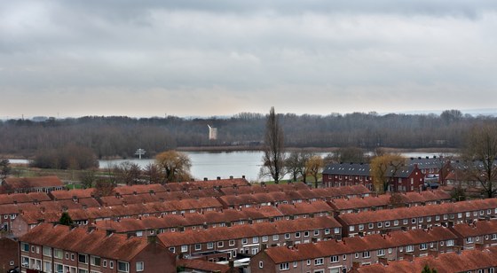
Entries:
POLYGON ((486 123, 471 129, 464 157, 469 179, 480 183, 485 196, 493 198, 497 187, 497 125, 486 123))

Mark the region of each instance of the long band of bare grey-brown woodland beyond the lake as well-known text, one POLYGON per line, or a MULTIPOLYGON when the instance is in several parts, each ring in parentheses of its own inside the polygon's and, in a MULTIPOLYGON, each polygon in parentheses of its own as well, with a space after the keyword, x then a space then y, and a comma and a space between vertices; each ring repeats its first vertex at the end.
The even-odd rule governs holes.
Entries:
MULTIPOLYGON (((490 116, 471 116, 458 110, 441 114, 332 113, 278 114, 286 147, 461 147, 464 132, 490 116)), ((261 145, 266 115, 239 113, 231 118, 130 118, 87 116, 44 121, 0 121, 0 154, 33 157, 39 151, 70 145, 88 148, 97 158, 130 158, 138 148, 153 157, 182 147, 261 145), (207 125, 218 129, 209 141, 207 125)), ((61 163, 60 163, 61 164, 61 163)))

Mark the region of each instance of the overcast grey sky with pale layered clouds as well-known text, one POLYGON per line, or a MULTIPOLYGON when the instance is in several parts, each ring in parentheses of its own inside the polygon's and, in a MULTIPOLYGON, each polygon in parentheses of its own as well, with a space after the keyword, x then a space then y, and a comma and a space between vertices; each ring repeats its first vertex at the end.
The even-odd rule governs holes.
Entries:
POLYGON ((0 118, 495 109, 496 33, 485 0, 2 1, 0 118))

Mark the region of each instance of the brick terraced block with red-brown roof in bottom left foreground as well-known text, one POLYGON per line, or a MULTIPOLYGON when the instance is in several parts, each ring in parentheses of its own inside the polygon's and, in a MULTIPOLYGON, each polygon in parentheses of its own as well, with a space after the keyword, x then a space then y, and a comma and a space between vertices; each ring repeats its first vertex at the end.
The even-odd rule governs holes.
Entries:
POLYGON ((175 272, 176 256, 156 238, 40 224, 20 238, 21 271, 175 272))

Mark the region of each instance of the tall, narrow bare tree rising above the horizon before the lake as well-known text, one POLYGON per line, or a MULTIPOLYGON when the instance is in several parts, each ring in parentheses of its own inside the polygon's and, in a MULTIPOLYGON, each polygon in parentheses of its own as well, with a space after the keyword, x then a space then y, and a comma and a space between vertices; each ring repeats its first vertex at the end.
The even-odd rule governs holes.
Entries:
POLYGON ((271 107, 265 125, 264 155, 261 176, 271 176, 274 183, 280 183, 285 175, 285 144, 283 129, 280 127, 278 117, 271 107))

